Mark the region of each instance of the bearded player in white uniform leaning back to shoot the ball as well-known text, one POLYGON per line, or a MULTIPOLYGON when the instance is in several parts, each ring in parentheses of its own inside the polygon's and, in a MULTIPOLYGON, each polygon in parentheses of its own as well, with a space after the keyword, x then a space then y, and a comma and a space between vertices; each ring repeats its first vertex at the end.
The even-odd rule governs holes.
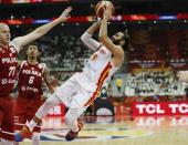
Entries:
POLYGON ((81 73, 75 73, 44 102, 35 117, 23 127, 22 132, 17 134, 18 142, 30 136, 33 127, 42 121, 49 110, 60 103, 64 103, 69 107, 65 124, 70 131, 65 139, 72 141, 79 135, 83 124, 77 122, 77 118, 98 96, 104 82, 119 69, 124 62, 123 46, 128 45, 125 41, 125 39, 128 40, 128 37, 123 32, 113 35, 112 40, 107 37, 109 18, 111 11, 106 9, 103 20, 94 23, 81 37, 81 40, 95 52, 81 73), (98 29, 101 43, 92 39, 93 33, 98 29))

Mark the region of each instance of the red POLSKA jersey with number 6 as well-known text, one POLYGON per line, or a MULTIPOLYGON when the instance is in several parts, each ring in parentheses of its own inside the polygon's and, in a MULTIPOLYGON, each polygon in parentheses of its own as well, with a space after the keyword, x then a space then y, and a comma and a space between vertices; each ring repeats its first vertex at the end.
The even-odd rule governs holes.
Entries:
POLYGON ((19 96, 33 97, 42 95, 44 63, 29 64, 23 61, 20 66, 18 90, 19 96))

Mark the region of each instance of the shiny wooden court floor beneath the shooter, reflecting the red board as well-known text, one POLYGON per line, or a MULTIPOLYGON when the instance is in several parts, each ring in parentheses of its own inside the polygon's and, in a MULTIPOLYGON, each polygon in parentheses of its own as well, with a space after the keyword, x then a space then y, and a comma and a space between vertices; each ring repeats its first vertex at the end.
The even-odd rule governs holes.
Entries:
POLYGON ((65 142, 66 132, 62 118, 45 118, 41 145, 188 145, 188 116, 90 117, 77 139, 65 142))

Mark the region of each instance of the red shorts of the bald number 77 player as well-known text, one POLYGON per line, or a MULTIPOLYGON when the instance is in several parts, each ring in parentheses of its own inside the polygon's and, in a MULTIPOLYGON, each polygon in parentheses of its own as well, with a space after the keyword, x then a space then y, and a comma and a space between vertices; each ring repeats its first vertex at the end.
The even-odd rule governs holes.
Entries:
POLYGON ((10 96, 0 96, 0 137, 14 141, 14 102, 10 96))

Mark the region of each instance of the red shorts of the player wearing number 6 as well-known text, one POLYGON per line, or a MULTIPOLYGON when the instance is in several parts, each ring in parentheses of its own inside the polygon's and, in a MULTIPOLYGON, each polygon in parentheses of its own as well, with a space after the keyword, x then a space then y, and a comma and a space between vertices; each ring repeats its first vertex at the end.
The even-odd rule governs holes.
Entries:
MULTIPOLYGON (((34 116, 39 107, 42 105, 41 96, 28 99, 23 96, 18 96, 15 102, 15 130, 21 131, 23 125, 30 122, 34 116)), ((34 127, 33 132, 40 133, 41 124, 38 124, 38 127, 34 127)))

